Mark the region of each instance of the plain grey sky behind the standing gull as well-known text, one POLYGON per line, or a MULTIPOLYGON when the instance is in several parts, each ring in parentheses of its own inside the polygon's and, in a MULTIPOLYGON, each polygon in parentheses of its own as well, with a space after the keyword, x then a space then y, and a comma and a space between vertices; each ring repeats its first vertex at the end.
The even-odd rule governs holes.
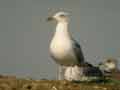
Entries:
POLYGON ((0 74, 56 77, 49 54, 55 24, 46 22, 57 11, 70 13, 69 31, 85 59, 97 64, 120 57, 119 0, 0 0, 0 74))

